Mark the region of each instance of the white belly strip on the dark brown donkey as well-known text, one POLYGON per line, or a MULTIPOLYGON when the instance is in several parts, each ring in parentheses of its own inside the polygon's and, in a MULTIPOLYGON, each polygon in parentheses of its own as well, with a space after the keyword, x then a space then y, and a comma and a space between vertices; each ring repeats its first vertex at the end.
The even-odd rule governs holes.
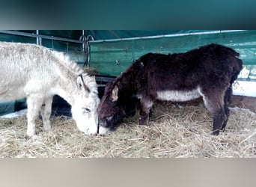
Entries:
POLYGON ((183 102, 200 97, 198 88, 191 91, 157 91, 156 99, 183 102))

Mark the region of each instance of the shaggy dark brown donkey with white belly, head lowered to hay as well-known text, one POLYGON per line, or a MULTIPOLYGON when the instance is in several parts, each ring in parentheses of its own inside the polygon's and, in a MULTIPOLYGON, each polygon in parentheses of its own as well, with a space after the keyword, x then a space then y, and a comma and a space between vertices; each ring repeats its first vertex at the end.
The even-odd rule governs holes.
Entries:
POLYGON ((156 99, 186 101, 203 96, 213 117, 213 134, 224 131, 232 83, 243 62, 234 49, 210 44, 186 53, 141 56, 114 82, 106 85, 98 107, 100 126, 114 130, 126 117, 127 105, 140 99, 139 124, 144 124, 156 99))

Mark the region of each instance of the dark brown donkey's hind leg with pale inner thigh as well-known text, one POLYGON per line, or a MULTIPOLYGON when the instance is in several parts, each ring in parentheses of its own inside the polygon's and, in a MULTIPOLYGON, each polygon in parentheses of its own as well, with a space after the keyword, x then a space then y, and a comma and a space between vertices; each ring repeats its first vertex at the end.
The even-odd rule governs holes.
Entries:
POLYGON ((225 94, 222 92, 207 91, 207 93, 202 93, 204 105, 213 117, 213 135, 219 135, 219 132, 223 132, 228 121, 229 111, 224 102, 225 94))

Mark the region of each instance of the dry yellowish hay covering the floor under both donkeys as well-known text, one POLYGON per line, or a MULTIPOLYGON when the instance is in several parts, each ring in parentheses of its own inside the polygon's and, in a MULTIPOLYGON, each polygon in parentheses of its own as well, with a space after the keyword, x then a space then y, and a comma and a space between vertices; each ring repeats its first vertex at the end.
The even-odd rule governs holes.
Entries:
POLYGON ((138 114, 109 136, 86 136, 71 119, 55 117, 52 131, 25 139, 26 119, 0 119, 0 157, 255 157, 256 114, 231 109, 227 129, 210 135, 212 121, 203 104, 186 107, 159 105, 146 126, 138 114))

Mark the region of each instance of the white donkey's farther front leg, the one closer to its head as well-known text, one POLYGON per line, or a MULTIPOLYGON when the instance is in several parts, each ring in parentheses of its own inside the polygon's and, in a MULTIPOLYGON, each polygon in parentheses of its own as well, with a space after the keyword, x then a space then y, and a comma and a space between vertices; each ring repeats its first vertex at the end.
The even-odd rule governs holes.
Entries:
POLYGON ((52 113, 52 99, 52 96, 46 98, 40 110, 40 114, 43 119, 43 129, 45 131, 49 131, 51 129, 50 116, 52 113))

